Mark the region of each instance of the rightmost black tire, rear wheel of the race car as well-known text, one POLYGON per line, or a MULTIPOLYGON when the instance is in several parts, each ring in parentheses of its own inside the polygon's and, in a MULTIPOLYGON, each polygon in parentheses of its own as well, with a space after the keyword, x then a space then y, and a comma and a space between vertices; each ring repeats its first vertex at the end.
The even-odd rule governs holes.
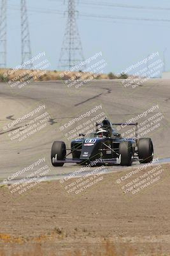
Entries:
POLYGON ((141 138, 138 141, 138 156, 140 163, 150 163, 153 160, 153 143, 150 138, 141 138))

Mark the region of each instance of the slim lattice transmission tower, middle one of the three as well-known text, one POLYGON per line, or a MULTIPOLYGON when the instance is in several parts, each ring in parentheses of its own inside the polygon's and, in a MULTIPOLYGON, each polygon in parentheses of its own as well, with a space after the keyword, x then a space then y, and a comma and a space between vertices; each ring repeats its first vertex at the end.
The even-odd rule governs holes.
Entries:
MULTIPOLYGON (((31 42, 29 35, 29 22, 27 17, 26 0, 21 0, 21 47, 22 47, 22 64, 25 61, 31 60, 31 42)), ((32 64, 25 66, 31 68, 32 64)))

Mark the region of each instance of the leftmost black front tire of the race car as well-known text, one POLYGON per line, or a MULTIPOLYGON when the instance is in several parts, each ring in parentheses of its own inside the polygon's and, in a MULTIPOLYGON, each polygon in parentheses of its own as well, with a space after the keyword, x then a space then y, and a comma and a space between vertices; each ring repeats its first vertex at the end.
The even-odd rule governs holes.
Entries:
MULTIPOLYGON (((64 141, 54 141, 51 151, 51 159, 57 155, 57 160, 64 160, 66 158, 66 144, 64 141)), ((53 166, 63 166, 64 163, 53 163, 53 166)))

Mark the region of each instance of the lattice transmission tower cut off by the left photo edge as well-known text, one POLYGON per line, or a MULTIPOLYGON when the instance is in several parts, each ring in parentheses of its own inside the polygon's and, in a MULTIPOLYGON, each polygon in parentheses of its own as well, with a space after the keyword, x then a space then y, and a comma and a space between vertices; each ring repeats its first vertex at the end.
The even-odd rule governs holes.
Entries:
POLYGON ((6 1, 1 1, 0 16, 0 67, 6 68, 6 1))

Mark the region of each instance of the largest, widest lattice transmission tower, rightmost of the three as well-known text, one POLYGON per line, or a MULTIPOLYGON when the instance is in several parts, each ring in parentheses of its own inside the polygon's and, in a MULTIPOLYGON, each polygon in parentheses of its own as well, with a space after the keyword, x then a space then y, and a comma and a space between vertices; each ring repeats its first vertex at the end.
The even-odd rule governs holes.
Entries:
MULTIPOLYGON (((67 0, 67 24, 59 58, 59 67, 67 70, 84 61, 78 26, 76 0, 67 0)), ((85 65, 81 66, 85 67, 85 65)))

